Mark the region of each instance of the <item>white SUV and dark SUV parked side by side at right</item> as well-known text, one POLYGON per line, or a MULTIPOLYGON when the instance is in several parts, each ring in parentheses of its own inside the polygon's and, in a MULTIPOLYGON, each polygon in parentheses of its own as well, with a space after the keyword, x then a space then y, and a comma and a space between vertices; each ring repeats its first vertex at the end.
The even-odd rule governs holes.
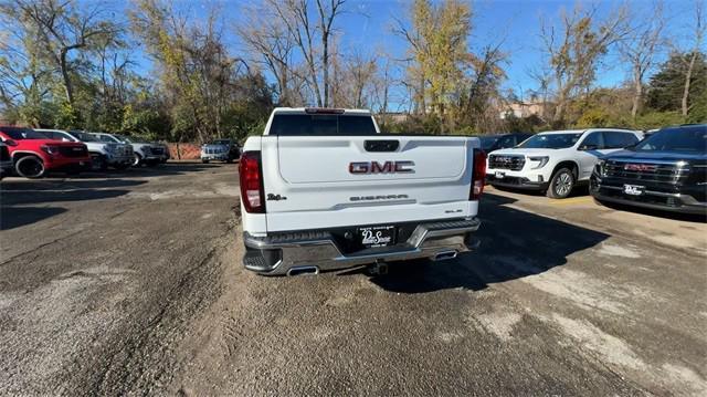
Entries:
POLYGON ((492 186, 568 197, 590 186, 599 202, 707 213, 707 124, 642 132, 591 128, 540 133, 490 152, 492 186))

